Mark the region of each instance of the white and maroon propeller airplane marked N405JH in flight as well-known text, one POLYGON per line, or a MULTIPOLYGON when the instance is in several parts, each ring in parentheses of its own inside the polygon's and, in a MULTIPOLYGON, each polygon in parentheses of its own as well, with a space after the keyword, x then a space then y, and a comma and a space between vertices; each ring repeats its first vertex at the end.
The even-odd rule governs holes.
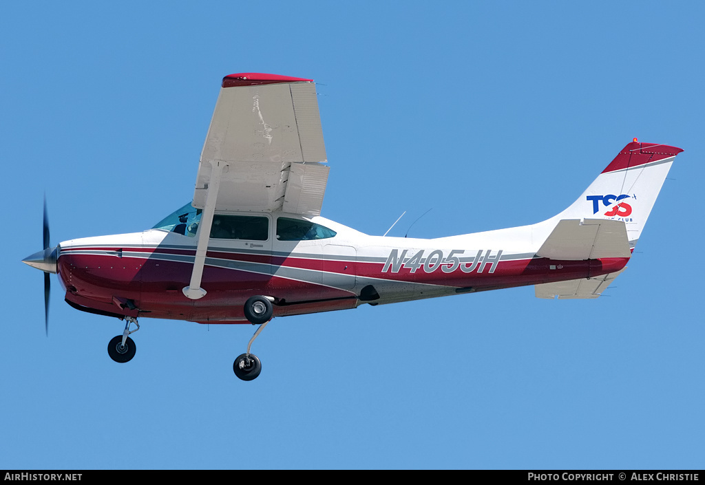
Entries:
POLYGON ((23 260, 68 305, 125 321, 108 345, 135 356, 138 318, 253 324, 273 317, 533 285, 540 298, 596 298, 625 270, 682 149, 635 138, 578 199, 529 226, 444 238, 367 235, 321 217, 329 176, 313 80, 262 73, 221 83, 190 202, 147 231, 51 246, 23 260), (135 328, 133 329, 133 325, 135 328))

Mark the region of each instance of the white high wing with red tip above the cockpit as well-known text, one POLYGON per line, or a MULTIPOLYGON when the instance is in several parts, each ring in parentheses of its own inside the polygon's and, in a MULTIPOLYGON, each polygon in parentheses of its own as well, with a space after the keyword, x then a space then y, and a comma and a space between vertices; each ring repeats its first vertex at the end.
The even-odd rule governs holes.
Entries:
POLYGON ((228 75, 201 152, 193 206, 204 209, 209 188, 219 185, 216 211, 317 216, 328 181, 326 161, 312 80, 228 75), (214 173, 220 173, 217 182, 214 173))

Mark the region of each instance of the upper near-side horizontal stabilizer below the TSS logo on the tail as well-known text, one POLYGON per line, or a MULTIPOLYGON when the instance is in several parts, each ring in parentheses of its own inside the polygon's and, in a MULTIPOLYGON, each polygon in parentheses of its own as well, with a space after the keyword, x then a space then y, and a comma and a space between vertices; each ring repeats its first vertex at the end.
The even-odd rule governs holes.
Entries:
POLYGON ((537 252, 538 257, 583 261, 631 257, 627 226, 613 219, 563 219, 537 252))

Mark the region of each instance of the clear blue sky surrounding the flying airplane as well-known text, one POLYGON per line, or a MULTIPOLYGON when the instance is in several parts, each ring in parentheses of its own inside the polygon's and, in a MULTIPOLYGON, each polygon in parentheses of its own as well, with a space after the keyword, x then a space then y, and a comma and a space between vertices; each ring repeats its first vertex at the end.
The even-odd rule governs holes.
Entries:
POLYGON ((0 468, 702 468, 702 2, 3 2, 0 468), (275 319, 77 312, 52 243, 192 197, 223 75, 314 78, 323 214, 439 237, 547 219, 632 137, 685 149, 598 300, 534 288, 275 319))

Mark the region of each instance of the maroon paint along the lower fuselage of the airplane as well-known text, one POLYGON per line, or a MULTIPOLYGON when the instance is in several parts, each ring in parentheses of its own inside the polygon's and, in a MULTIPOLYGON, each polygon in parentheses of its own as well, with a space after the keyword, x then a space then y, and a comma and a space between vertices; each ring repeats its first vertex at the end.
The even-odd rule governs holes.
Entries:
MULTIPOLYGON (((145 253, 144 257, 116 257, 108 254, 77 254, 89 250, 118 251, 120 248, 68 248, 59 257, 59 278, 66 288, 66 297, 79 305, 137 316, 137 311, 118 306, 115 297, 130 299, 140 309, 142 317, 198 321, 200 323, 248 323, 243 314, 245 300, 252 295, 273 295, 285 305, 275 305, 274 316, 325 312, 347 309, 360 302, 355 294, 326 286, 326 273, 357 275, 358 278, 378 278, 387 282, 412 282, 455 288, 510 288, 567 279, 588 278, 623 269, 629 258, 603 258, 587 261, 556 261, 546 258, 515 259, 498 262, 493 273, 486 269, 465 274, 460 269, 445 274, 426 273, 402 268, 398 273, 381 270, 381 262, 350 262, 306 257, 279 257, 271 254, 238 252, 208 252, 209 258, 226 262, 252 262, 314 270, 321 283, 309 283, 273 274, 241 269, 205 266, 202 286, 207 295, 190 300, 182 293, 188 286, 192 262, 175 262, 150 257, 176 254, 193 257, 193 250, 155 247, 130 247, 130 252, 145 253), (327 300, 327 301, 317 301, 327 300), (305 303, 302 303, 305 302, 305 303), (291 305, 294 304, 294 305, 291 305)), ((415 299, 409 295, 409 299, 415 299)))

